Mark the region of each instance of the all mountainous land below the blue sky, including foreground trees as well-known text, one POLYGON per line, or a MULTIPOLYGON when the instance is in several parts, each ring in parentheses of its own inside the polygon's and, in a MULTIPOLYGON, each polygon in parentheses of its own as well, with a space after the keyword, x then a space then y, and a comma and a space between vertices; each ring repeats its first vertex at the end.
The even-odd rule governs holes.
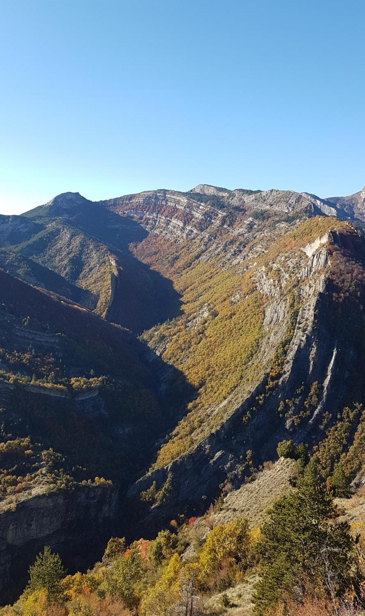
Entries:
POLYGON ((4 615, 360 613, 359 195, 64 193, 0 221, 4 615))

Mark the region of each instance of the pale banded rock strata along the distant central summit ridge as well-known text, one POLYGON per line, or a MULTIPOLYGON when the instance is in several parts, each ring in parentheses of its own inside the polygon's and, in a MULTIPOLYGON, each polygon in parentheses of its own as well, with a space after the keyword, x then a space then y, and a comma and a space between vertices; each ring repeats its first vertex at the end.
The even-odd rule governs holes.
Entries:
POLYGON ((296 212, 304 216, 326 214, 347 217, 340 206, 308 193, 273 189, 227 190, 206 184, 199 184, 187 193, 151 190, 103 203, 111 211, 134 217, 149 231, 180 240, 197 235, 203 240, 210 240, 221 227, 232 227, 232 231, 240 233, 243 229, 232 226, 232 220, 227 219, 227 211, 230 210, 247 215, 271 211, 282 214, 296 212))

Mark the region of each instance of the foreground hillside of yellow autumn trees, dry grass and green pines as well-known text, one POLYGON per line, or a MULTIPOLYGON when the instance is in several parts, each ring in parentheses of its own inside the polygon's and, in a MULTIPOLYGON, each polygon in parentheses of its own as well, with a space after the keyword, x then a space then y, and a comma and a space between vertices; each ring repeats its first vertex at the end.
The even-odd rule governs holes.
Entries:
MULTIPOLYGON (((221 521, 220 500, 201 518, 172 520, 170 529, 152 540, 127 545, 124 537, 112 537, 101 562, 86 573, 68 575, 58 554, 46 546, 29 568, 22 596, 0 613, 363 614, 364 528, 356 516, 348 521, 351 502, 333 500, 315 458, 304 468, 281 458, 262 471, 264 482, 265 475, 276 493, 260 525, 235 509, 221 521), (277 487, 285 490, 288 477, 292 485, 278 496, 277 487), (337 503, 347 507, 345 516, 337 503)), ((245 502, 240 492, 229 495, 235 498, 231 503, 245 502)))

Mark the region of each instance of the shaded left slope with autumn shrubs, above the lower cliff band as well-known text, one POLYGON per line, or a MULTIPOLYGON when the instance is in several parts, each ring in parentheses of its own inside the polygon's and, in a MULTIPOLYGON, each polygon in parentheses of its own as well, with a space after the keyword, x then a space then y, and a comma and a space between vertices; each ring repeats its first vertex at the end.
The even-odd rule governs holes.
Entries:
POLYGON ((1 270, 0 284, 2 496, 66 476, 125 482, 171 421, 141 345, 1 270))

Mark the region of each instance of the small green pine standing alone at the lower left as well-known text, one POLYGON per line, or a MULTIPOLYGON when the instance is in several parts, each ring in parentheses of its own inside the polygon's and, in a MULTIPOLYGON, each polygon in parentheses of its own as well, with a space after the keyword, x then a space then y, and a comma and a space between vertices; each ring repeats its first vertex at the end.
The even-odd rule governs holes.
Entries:
POLYGON ((61 593, 60 582, 64 576, 65 569, 59 554, 52 554, 50 546, 46 545, 36 557, 34 565, 29 567, 28 589, 31 593, 45 589, 49 601, 57 602, 61 593))

